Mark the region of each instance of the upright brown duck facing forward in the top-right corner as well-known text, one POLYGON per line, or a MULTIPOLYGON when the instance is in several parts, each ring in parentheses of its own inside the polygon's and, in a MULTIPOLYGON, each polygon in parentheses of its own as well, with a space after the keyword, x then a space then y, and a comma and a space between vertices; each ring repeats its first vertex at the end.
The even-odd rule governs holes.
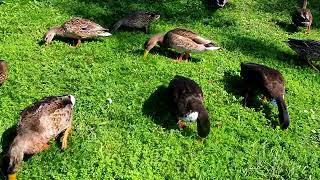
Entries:
POLYGON ((310 9, 307 9, 307 0, 304 0, 302 8, 297 9, 292 14, 292 22, 296 26, 307 26, 306 33, 309 33, 311 30, 312 20, 312 13, 310 9))

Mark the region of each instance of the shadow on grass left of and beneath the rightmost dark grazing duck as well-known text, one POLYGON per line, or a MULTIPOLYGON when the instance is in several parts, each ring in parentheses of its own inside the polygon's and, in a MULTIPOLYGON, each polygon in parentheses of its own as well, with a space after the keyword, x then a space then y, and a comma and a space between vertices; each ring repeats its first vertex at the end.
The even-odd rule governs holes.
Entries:
MULTIPOLYGON (((224 78, 224 89, 228 94, 234 95, 236 98, 243 98, 245 93, 245 87, 243 86, 242 78, 235 71, 225 71, 224 78)), ((262 102, 261 94, 257 92, 247 102, 248 108, 253 108, 256 112, 261 111, 272 128, 276 128, 279 125, 278 119, 275 119, 275 114, 272 113, 272 106, 270 102, 262 102)), ((244 101, 242 100, 242 105, 244 101)))

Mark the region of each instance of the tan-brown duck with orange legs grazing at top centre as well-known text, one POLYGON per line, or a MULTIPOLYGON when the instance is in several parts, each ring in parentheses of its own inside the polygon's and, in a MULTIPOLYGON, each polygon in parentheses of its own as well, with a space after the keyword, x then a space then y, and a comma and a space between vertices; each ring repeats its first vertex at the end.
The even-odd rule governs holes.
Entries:
POLYGON ((192 31, 176 28, 167 32, 165 35, 156 34, 148 39, 144 44, 145 58, 157 43, 165 48, 173 48, 178 51, 180 53, 177 57, 178 61, 188 59, 190 52, 202 52, 207 50, 217 50, 220 48, 214 45, 210 40, 200 37, 192 31))

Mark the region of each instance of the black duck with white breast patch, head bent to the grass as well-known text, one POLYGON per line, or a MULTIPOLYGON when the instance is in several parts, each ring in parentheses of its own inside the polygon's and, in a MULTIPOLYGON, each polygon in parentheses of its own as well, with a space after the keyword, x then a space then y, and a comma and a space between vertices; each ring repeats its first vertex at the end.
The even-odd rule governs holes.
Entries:
POLYGON ((197 122, 199 137, 207 137, 210 121, 201 87, 190 78, 176 75, 169 83, 168 97, 178 127, 184 129, 185 122, 197 122))

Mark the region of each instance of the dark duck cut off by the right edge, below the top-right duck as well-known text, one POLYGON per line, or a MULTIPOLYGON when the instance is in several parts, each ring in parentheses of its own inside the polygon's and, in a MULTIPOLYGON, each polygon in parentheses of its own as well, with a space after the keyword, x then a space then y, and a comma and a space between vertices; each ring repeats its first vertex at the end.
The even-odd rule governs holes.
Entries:
POLYGON ((319 41, 289 38, 285 43, 298 54, 302 61, 307 62, 314 70, 319 71, 312 62, 313 60, 320 60, 319 41))

